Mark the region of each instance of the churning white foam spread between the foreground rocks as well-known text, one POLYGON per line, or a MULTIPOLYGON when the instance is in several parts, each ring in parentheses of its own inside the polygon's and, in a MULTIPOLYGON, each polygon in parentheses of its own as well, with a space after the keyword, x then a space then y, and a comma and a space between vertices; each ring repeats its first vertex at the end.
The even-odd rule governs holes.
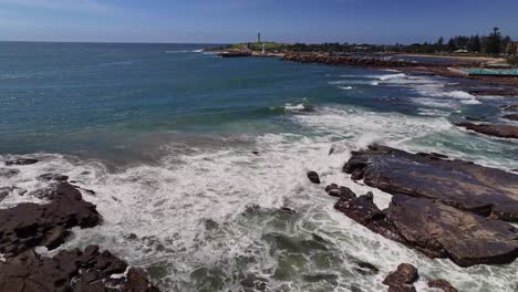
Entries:
MULTIPOLYGON (((175 286, 197 291, 197 281, 209 281, 217 274, 235 279, 220 281, 225 291, 239 291, 247 273, 268 279, 273 291, 287 285, 293 291, 328 291, 323 282, 309 286, 301 280, 311 273, 336 274, 345 290, 355 284, 363 291, 384 291, 383 278, 401 262, 416 265, 422 281, 444 278, 460 291, 486 286, 511 291, 518 262, 464 269, 449 260, 428 259, 335 211, 335 198, 323 191, 331 182, 350 187, 356 194, 373 191, 375 202, 386 207, 390 195, 353 182, 343 174, 350 152, 374 142, 406 148, 412 139, 457 133, 446 118, 376 113, 353 106, 321 107, 289 118, 317 135, 269 134, 253 137, 253 144, 244 146, 196 144, 189 146, 188 153, 178 153, 177 145, 168 145, 164 149, 170 153, 158 164, 116 170, 108 170, 100 161, 45 155, 42 163, 13 167, 21 173, 1 185, 38 189, 44 187, 44 182, 34 182, 38 175, 59 173, 95 190, 95 195, 83 196, 97 206, 103 225, 74 229, 73 237, 59 250, 100 244, 132 265, 164 270, 159 279, 164 291, 175 286), (331 147, 334 152, 329 155, 331 147), (320 174, 320 186, 309 182, 309 170, 320 174), (289 207, 296 213, 283 215, 278 211, 280 207, 289 207), (127 239, 131 233, 137 239, 127 239), (286 237, 284 240, 310 240, 318 234, 328 242, 327 250, 297 253, 299 260, 293 260, 289 257, 294 255, 268 240, 271 234, 286 237), (380 273, 353 274, 352 257, 376 265, 380 273), (292 275, 286 281, 276 280, 274 271, 290 259, 292 275), (325 264, 319 264, 319 259, 325 259, 325 264), (200 269, 207 269, 207 274, 200 269), (194 279, 193 274, 200 275, 194 279)), ((432 150, 442 152, 441 147, 435 145, 432 150)), ((423 283, 417 286, 424 288, 423 283)))

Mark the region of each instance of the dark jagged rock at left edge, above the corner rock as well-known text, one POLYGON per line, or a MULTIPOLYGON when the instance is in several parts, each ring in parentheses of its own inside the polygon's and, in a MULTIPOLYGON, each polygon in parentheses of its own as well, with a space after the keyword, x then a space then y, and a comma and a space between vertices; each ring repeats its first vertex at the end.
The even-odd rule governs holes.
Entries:
POLYGON ((42 192, 51 200, 49 204, 19 204, 0 210, 0 253, 7 258, 41 244, 55 248, 63 242, 65 230, 94 227, 101 221, 95 206, 66 182, 42 192))

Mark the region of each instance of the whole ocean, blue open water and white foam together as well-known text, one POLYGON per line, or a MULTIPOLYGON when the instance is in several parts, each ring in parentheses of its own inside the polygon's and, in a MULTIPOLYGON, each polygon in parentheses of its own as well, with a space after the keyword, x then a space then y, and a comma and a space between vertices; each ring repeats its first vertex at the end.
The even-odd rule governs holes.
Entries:
MULTIPOLYGON (((42 159, 0 186, 30 192, 45 185, 38 175, 64 174, 95 190, 83 195, 104 217, 60 249, 100 244, 163 291, 384 291, 401 262, 419 269, 419 291, 435 278, 515 291, 518 262, 431 260, 335 211, 322 189, 373 191, 386 207, 390 195, 341 170, 371 143, 515 169, 516 143, 452 124, 498 121, 512 97, 474 96, 466 80, 221 59, 206 46, 0 42, 0 160, 42 159), (355 271, 359 261, 380 272, 355 271)), ((21 201, 41 199, 9 196, 0 208, 21 201)))

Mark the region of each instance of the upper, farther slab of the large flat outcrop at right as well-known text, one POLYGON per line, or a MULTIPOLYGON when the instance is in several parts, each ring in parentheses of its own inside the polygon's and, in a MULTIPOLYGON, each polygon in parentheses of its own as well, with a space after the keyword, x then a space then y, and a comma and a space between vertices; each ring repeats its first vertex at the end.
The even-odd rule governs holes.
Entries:
POLYGON ((410 154, 371 145, 353 152, 348 174, 388 194, 438 200, 480 216, 518 221, 518 175, 437 154, 410 154))

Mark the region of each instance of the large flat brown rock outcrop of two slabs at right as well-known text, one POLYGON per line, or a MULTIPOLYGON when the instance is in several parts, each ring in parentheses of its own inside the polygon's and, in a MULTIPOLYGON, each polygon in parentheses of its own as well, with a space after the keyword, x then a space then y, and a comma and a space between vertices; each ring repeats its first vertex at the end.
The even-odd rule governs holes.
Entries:
POLYGON ((518 257, 518 175, 441 154, 371 145, 343 168, 353 180, 393 195, 381 210, 373 195, 327 187, 334 208, 381 236, 459 267, 510 263, 518 257))

